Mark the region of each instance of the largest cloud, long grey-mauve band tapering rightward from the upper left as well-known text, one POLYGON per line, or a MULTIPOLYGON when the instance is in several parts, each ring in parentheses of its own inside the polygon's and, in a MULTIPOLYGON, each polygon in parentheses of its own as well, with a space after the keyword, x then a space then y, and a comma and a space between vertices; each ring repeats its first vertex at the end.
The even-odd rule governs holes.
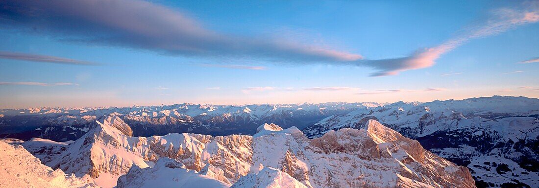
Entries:
POLYGON ((301 62, 356 61, 359 54, 268 36, 205 29, 185 12, 139 0, 0 1, 0 28, 59 40, 170 55, 252 57, 301 62))

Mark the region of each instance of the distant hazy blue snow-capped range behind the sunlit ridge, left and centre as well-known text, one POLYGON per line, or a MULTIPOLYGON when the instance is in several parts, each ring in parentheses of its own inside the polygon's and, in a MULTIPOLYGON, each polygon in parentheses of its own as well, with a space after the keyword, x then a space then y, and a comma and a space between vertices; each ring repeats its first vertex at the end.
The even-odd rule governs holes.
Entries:
POLYGON ((264 123, 303 128, 331 115, 379 106, 377 103, 321 103, 296 105, 170 105, 125 108, 30 108, 0 110, 0 138, 54 141, 77 140, 95 120, 114 114, 129 124, 135 136, 168 133, 207 135, 254 134, 264 123))

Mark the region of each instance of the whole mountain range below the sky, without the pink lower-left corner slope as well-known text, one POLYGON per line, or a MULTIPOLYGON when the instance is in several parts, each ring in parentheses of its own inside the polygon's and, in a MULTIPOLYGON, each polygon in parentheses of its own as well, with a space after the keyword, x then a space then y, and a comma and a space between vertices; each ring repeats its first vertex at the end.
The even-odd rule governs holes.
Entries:
POLYGON ((0 110, 4 142, 105 187, 537 187, 538 125, 539 99, 509 96, 0 110))

